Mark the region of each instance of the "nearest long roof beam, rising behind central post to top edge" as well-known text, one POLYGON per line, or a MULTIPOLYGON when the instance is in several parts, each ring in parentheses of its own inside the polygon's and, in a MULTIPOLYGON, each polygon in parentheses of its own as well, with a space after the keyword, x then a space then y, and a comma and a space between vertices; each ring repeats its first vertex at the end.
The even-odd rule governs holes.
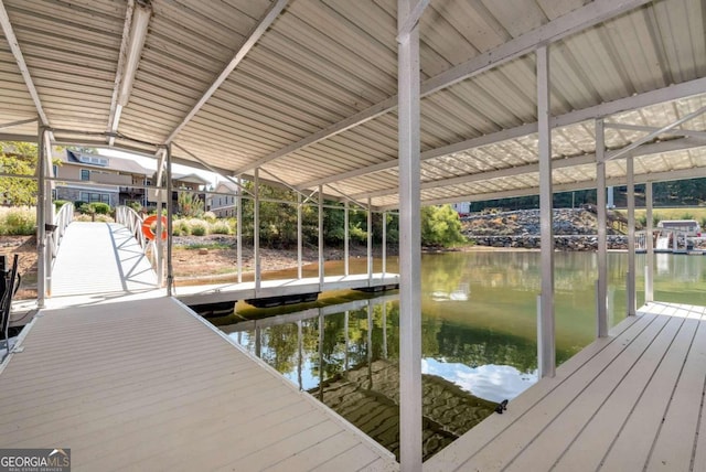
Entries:
MULTIPOLYGON (((595 0, 585 7, 578 8, 535 30, 530 31, 528 33, 522 34, 491 51, 459 64, 445 73, 428 78, 421 84, 419 96, 425 97, 434 94, 435 92, 481 74, 503 63, 521 57, 534 51, 539 45, 560 41, 570 34, 585 30, 586 28, 593 26, 612 17, 633 10, 649 2, 650 0, 595 0)), ((267 162, 282 158, 308 146, 315 144, 319 141, 375 119, 378 116, 385 115, 396 108, 397 96, 395 95, 292 144, 281 148, 269 155, 258 159, 257 161, 238 169, 236 173, 244 173, 252 169, 260 168, 267 162)))

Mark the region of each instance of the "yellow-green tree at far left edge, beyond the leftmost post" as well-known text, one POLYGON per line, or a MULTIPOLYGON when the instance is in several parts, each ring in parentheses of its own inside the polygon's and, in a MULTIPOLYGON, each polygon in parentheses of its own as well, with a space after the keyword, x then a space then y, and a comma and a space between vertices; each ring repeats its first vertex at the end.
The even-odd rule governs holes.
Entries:
MULTIPOLYGON (((36 144, 0 141, 0 172, 34 175, 36 144)), ((0 178, 1 200, 13 206, 36 204, 36 181, 24 178, 0 178)))

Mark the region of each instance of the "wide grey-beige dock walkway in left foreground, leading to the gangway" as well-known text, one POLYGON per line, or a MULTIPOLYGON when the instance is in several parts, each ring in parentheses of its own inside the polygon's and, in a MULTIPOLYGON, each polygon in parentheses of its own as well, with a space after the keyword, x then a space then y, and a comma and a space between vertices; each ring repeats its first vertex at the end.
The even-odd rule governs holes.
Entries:
POLYGON ((397 470, 176 300, 44 310, 0 367, 0 444, 75 471, 397 470))

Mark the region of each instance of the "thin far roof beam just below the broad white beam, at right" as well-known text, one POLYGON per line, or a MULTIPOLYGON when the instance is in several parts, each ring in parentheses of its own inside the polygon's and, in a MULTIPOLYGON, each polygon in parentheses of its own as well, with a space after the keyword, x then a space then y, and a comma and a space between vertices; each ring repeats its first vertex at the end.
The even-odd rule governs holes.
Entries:
MULTIPOLYGON (((682 151, 686 149, 694 149, 694 148, 702 148, 702 147, 704 147, 704 141, 702 141, 700 139, 694 139, 694 138, 671 139, 668 141, 660 141, 652 144, 644 144, 641 148, 633 149, 632 151, 628 152, 628 157, 639 158, 643 155, 661 154, 665 152, 682 151)), ((587 154, 574 155, 570 158, 564 158, 564 159, 553 159, 552 169, 553 170, 566 169, 566 168, 571 168, 576 165, 591 164, 595 162, 596 162, 596 154, 587 153, 587 154)), ((439 179, 439 180, 434 180, 429 182, 424 182, 421 183, 421 190, 438 189, 438 187, 448 186, 448 185, 461 185, 461 184, 479 182, 479 181, 490 181, 494 179, 503 179, 503 178, 516 176, 516 175, 528 174, 534 172, 539 172, 538 162, 517 165, 514 168, 499 169, 496 171, 477 172, 477 173, 467 174, 467 175, 459 175, 451 179, 439 179)), ((389 187, 389 189, 379 190, 376 192, 354 194, 352 195, 352 197, 353 199, 365 199, 365 197, 375 199, 381 196, 394 195, 396 193, 397 193, 396 187, 389 187)))

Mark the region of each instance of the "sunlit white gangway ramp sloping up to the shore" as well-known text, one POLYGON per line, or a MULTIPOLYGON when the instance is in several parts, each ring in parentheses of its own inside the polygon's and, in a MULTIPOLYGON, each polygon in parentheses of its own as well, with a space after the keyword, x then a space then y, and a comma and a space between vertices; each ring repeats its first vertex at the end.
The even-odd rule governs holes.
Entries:
POLYGON ((73 222, 56 255, 52 297, 139 292, 157 275, 137 239, 117 223, 73 222))

